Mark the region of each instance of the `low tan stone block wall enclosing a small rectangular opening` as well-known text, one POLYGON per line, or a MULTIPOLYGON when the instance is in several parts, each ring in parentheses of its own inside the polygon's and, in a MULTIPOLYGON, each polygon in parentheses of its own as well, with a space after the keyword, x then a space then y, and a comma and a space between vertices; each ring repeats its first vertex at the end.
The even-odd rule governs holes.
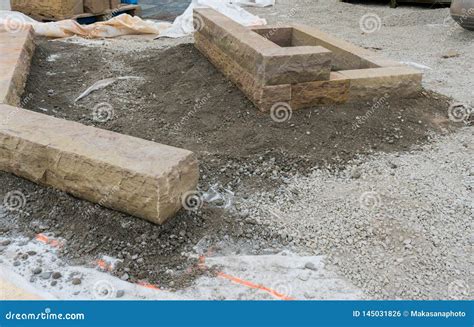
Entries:
POLYGON ((307 26, 246 28, 195 9, 195 46, 262 111, 409 97, 422 75, 307 26))

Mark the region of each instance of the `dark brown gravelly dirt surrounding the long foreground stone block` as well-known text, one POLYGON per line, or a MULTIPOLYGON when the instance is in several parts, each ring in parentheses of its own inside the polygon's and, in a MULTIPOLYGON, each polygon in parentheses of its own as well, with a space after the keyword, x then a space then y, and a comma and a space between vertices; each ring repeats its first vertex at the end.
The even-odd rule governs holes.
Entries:
MULTIPOLYGON (((388 99, 365 128, 355 130, 357 117, 373 104, 313 108, 278 123, 258 112, 192 44, 148 50, 137 58, 47 40, 38 41, 24 102, 30 110, 190 149, 200 160, 200 187, 206 190, 217 183, 239 198, 255 190, 275 190, 285 178, 315 167, 337 169, 374 150, 399 151, 423 143, 430 133, 448 126, 449 104, 431 92, 388 99), (142 80, 119 81, 75 103, 86 86, 123 75, 142 80), (113 107, 113 117, 97 123, 91 108, 103 102, 113 107)), ((257 235, 262 243, 257 249, 286 245, 278 235, 242 219, 247 217, 241 212, 183 211, 160 227, 9 174, 2 173, 1 179, 3 192, 21 185, 28 194, 30 215, 18 217, 21 232, 33 237, 47 231, 66 239, 62 254, 75 263, 93 262, 101 254, 125 258, 114 273, 126 273, 130 281, 187 286, 199 271, 190 269, 196 262, 183 262, 181 253, 209 234, 216 240, 229 234, 236 242, 257 235), (31 221, 37 216, 42 217, 41 228, 31 221), (167 278, 169 269, 179 271, 179 278, 167 278)))

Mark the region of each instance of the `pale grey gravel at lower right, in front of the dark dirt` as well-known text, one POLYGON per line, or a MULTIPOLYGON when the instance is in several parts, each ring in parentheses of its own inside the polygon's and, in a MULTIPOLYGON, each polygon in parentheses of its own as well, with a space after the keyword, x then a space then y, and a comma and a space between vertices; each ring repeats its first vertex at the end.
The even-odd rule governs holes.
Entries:
POLYGON ((240 205, 305 250, 327 255, 374 298, 458 298, 453 285, 469 285, 473 267, 472 137, 465 128, 408 153, 316 170, 240 205), (351 178, 355 166, 360 179, 351 178))

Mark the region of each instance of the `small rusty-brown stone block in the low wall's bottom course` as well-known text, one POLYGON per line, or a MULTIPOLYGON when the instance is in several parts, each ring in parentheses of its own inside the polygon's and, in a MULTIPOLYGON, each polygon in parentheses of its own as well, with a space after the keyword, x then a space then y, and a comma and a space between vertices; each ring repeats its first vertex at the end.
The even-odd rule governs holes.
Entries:
POLYGON ((331 73, 328 81, 299 83, 291 86, 292 109, 302 109, 321 104, 347 102, 350 80, 341 74, 331 73))

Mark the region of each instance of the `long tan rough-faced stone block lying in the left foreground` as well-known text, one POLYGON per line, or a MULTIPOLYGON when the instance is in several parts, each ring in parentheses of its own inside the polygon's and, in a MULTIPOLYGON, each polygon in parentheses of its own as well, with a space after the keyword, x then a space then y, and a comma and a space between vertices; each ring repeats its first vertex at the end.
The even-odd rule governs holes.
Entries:
POLYGON ((195 189, 195 155, 0 105, 0 169, 162 224, 195 189))

